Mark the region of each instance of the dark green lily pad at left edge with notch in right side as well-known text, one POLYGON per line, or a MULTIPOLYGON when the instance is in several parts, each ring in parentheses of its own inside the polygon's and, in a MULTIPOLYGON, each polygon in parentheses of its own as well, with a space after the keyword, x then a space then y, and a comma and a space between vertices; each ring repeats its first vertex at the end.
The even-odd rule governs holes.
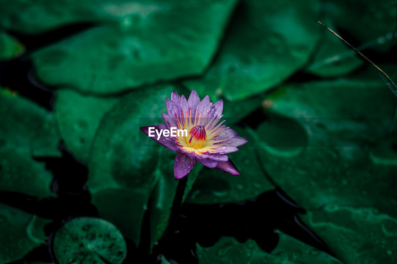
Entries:
POLYGON ((34 156, 60 155, 54 116, 10 90, 0 90, 0 190, 52 195, 51 172, 34 156))

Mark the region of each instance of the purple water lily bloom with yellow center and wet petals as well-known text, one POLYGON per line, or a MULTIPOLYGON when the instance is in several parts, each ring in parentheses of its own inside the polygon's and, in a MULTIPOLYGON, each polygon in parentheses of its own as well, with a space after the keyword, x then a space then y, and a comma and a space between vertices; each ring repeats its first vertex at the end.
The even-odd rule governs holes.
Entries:
POLYGON ((247 143, 247 140, 237 136, 234 130, 222 125, 225 121, 218 124, 223 117, 222 100, 212 105, 209 96, 206 96, 200 101, 197 92, 193 90, 188 100, 185 96, 172 92, 171 99, 167 98, 166 103, 168 114, 162 114, 165 124, 144 126, 141 130, 148 136, 150 136, 149 128, 157 131, 171 131, 171 128, 186 130, 178 136, 164 136, 160 133, 158 136, 153 136, 153 134, 151 136, 156 142, 177 152, 174 163, 175 179, 179 180, 186 176, 196 161, 208 168, 240 175, 225 154, 237 151, 237 147, 247 143))

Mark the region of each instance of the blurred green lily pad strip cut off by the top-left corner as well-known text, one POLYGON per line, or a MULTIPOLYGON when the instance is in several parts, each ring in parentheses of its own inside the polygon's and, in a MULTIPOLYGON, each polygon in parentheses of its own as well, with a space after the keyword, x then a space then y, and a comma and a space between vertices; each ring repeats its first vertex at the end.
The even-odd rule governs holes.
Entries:
POLYGON ((37 34, 73 23, 132 23, 164 8, 166 4, 165 1, 156 2, 61 0, 54 3, 41 0, 32 5, 23 0, 7 1, 7 8, 0 11, 0 24, 9 30, 37 34))

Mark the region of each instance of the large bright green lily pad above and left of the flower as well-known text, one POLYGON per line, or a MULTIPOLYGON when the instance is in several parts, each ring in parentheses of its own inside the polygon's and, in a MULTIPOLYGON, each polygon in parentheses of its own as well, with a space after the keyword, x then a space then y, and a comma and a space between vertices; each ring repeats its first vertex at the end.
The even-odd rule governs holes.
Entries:
POLYGON ((112 94, 202 73, 235 0, 157 4, 144 16, 127 17, 123 27, 94 27, 39 50, 32 55, 38 77, 54 86, 112 94))

